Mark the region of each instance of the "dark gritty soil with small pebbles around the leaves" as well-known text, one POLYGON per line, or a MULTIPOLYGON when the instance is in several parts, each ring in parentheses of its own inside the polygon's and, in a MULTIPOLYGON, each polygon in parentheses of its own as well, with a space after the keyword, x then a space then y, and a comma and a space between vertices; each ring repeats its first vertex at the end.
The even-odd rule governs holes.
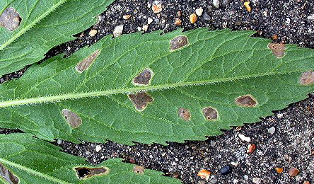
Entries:
MULTIPOLYGON (((117 25, 124 25, 123 34, 134 33, 147 24, 147 18, 152 18, 153 23, 146 32, 163 30, 166 33, 178 28, 191 30, 199 27, 256 30, 257 37, 314 48, 314 20, 308 18, 314 14, 314 1, 252 0, 250 6, 251 12, 240 0, 221 0, 219 8, 212 5, 212 0, 115 1, 100 16, 97 25, 77 34, 78 39, 50 50, 47 58, 59 53, 69 55, 91 45, 111 34, 117 25), (153 3, 162 4, 161 13, 153 13, 153 3), (199 7, 204 12, 196 23, 191 24, 189 16, 199 7), (181 11, 180 26, 174 25, 178 11, 181 11), (122 16, 127 14, 131 18, 124 20, 122 16), (88 35, 91 29, 98 30, 93 37, 88 35)), ((19 77, 24 71, 3 76, 0 83, 19 77)), ((114 142, 72 144, 58 140, 55 144, 69 154, 86 157, 91 163, 121 157, 127 162, 163 171, 183 183, 303 183, 304 180, 314 183, 313 105, 314 96, 310 95, 261 122, 245 125, 240 131, 230 130, 219 137, 210 137, 206 142, 124 146, 114 142), (273 134, 268 131, 271 127, 275 129, 273 134), (257 146, 256 151, 248 154, 249 143, 241 140, 238 134, 250 137, 257 146), (222 175, 220 169, 223 166, 231 166, 231 173, 222 175), (301 171, 298 176, 289 176, 291 166, 301 171), (284 171, 279 174, 274 170, 276 167, 284 168, 284 171), (202 168, 212 173, 208 181, 197 176, 202 168)), ((0 130, 0 133, 8 132, 11 130, 0 130)))

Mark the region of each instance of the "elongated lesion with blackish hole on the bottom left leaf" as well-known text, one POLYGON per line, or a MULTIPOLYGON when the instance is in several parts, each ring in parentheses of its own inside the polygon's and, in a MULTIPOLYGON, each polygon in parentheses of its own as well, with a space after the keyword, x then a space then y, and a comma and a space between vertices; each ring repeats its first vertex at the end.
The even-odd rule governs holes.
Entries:
POLYGON ((110 169, 107 167, 90 168, 90 167, 76 167, 76 176, 80 179, 87 179, 93 176, 103 176, 109 173, 110 169))

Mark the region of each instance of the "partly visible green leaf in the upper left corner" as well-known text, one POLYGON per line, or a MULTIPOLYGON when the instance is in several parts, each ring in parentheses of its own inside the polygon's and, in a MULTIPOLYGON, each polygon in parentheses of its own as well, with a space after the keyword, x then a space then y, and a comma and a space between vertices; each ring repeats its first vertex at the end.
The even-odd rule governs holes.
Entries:
POLYGON ((0 28, 0 76, 38 62, 52 47, 73 40, 72 35, 93 25, 112 1, 1 1, 0 15, 13 7, 22 21, 12 32, 0 28))

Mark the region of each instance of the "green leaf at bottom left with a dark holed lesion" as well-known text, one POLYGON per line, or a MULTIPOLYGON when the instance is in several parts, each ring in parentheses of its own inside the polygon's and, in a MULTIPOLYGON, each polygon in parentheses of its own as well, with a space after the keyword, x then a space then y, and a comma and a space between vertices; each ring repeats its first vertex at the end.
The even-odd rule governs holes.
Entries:
POLYGON ((59 151, 60 147, 30 134, 0 134, 0 147, 2 183, 180 183, 161 176, 160 171, 144 169, 144 173, 135 173, 135 165, 122 163, 122 159, 109 159, 92 166, 85 159, 65 154, 59 151), (82 178, 88 171, 91 177, 82 178), (11 173, 11 177, 4 173, 11 173))

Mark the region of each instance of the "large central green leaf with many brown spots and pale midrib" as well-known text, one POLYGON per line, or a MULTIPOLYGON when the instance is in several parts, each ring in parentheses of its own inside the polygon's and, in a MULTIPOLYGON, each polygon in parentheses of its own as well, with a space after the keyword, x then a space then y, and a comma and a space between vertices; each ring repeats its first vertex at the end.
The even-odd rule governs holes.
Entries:
POLYGON ((0 126, 47 140, 165 144, 260 121, 314 91, 314 50, 253 33, 109 35, 2 84, 0 126))

